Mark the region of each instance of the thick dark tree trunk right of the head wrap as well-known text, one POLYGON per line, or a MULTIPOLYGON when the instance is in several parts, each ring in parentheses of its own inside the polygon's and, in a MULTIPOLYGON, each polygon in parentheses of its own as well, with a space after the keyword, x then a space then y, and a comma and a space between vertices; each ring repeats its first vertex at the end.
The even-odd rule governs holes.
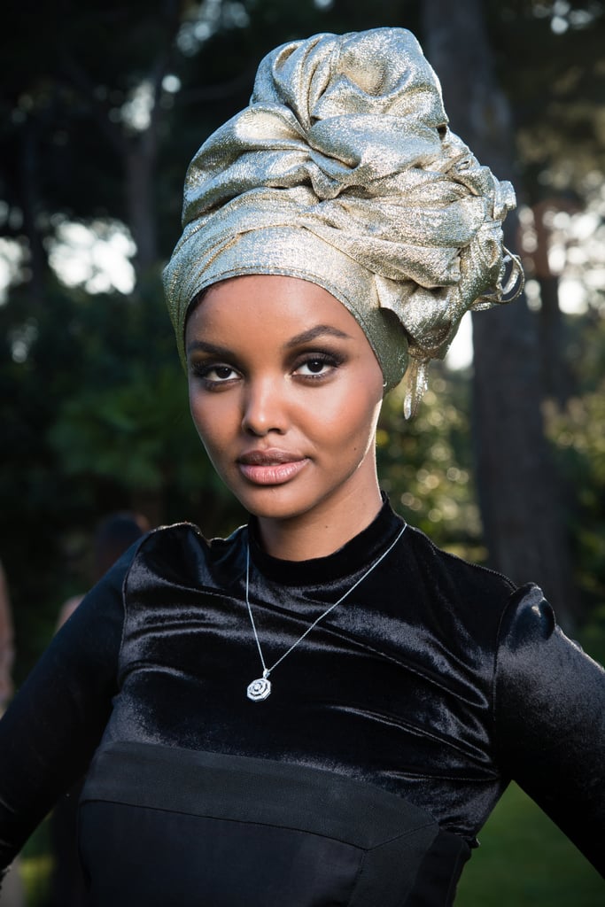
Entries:
MULTIPOLYGON (((479 0, 424 0, 426 55, 444 86, 454 132, 501 179, 512 179, 508 103, 495 82, 479 0)), ((516 219, 505 240, 513 248, 516 219)), ((525 299, 473 315, 473 427, 479 502, 493 568, 542 585, 570 626, 576 594, 561 491, 542 426, 536 319, 525 299)))

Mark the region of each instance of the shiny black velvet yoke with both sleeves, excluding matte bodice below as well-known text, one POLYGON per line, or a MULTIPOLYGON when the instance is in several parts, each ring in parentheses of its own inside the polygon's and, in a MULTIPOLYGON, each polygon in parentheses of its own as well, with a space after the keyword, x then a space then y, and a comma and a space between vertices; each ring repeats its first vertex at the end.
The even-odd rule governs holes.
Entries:
MULTIPOLYGON (((151 532, 86 597, 0 721, 0 867, 102 739, 333 772, 398 795, 467 844, 514 777, 605 873, 605 673, 535 587, 514 590, 407 527, 278 665, 271 696, 246 697, 261 673, 249 534, 271 665, 402 525, 385 503, 340 551, 302 563, 261 551, 253 522, 212 542, 186 524, 151 532)), ((447 840, 426 865, 454 879, 437 855, 447 840)))

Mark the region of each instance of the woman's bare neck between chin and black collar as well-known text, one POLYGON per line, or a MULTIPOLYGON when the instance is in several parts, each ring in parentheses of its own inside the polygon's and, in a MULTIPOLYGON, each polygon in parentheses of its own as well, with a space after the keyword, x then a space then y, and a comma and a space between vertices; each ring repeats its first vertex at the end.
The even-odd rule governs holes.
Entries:
POLYGON ((271 557, 282 561, 327 557, 366 529, 382 504, 376 483, 363 499, 347 494, 337 504, 317 504, 311 511, 287 519, 259 517, 260 542, 271 557))

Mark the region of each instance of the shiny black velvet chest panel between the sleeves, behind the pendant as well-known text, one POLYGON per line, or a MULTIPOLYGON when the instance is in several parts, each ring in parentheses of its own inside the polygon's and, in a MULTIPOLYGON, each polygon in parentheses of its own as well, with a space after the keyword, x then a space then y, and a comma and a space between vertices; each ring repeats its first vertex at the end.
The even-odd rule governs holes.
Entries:
MULTIPOLYGON (((250 600, 268 665, 400 532, 387 504, 317 561, 276 561, 252 533, 250 600)), ((264 702, 245 604, 247 530, 209 547, 152 533, 125 583, 121 692, 104 740, 330 769, 381 786, 473 840, 506 783, 493 762, 493 658, 512 585, 408 527, 378 570, 276 668, 264 702)))

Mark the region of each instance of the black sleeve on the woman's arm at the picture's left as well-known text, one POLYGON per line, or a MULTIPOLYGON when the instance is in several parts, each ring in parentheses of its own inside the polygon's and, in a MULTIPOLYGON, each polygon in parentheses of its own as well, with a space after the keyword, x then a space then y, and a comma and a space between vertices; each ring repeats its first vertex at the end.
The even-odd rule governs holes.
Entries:
POLYGON ((112 708, 122 583, 133 549, 97 583, 0 720, 0 875, 86 770, 112 708))

